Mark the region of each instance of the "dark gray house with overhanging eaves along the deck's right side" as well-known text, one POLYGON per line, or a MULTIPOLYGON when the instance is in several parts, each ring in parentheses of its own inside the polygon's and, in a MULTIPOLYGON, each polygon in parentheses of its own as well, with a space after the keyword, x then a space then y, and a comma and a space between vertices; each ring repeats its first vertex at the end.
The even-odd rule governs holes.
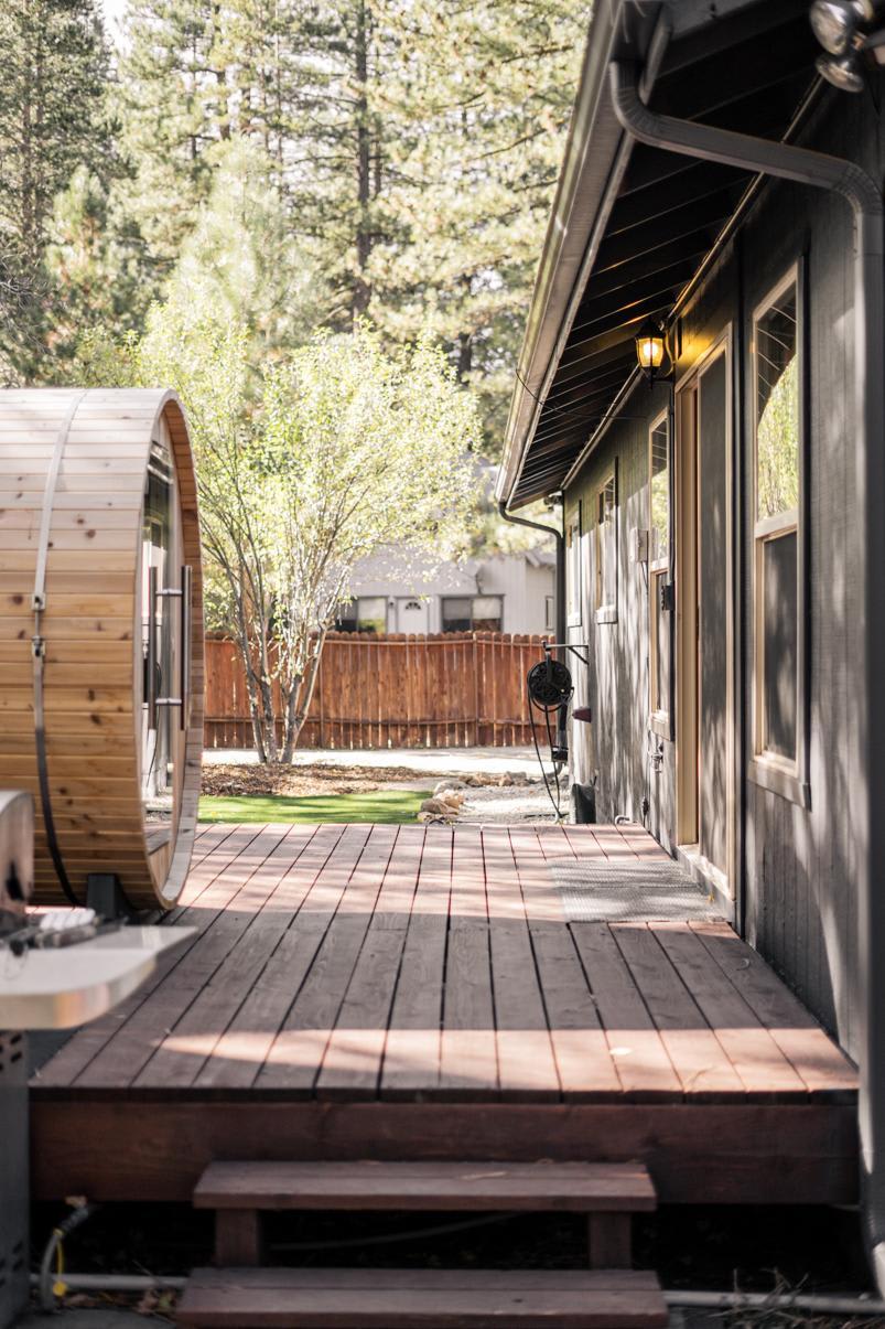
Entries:
POLYGON ((691 863, 860 1062, 881 1285, 884 27, 594 7, 497 489, 563 497, 599 819, 691 863))

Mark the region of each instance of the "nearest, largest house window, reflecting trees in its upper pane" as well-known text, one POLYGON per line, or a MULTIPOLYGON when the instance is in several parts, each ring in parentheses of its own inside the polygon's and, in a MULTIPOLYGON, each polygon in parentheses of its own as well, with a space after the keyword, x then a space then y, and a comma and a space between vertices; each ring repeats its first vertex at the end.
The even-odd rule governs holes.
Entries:
MULTIPOLYGON (((799 274, 753 318, 753 776, 787 796, 800 776, 803 734, 801 346, 799 274)), ((801 797, 807 787, 800 788, 801 797)))

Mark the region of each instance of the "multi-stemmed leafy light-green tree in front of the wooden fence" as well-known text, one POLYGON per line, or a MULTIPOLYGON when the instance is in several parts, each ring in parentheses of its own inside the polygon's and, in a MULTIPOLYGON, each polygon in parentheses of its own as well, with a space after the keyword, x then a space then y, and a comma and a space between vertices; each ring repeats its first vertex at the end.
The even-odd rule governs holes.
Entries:
POLYGON ((142 342, 88 339, 88 381, 185 401, 213 615, 237 641, 262 762, 290 762, 356 563, 444 558, 474 500, 473 401, 428 342, 388 354, 364 324, 319 334, 250 391, 250 336, 157 306, 142 342), (275 695, 282 702, 282 740, 275 695))

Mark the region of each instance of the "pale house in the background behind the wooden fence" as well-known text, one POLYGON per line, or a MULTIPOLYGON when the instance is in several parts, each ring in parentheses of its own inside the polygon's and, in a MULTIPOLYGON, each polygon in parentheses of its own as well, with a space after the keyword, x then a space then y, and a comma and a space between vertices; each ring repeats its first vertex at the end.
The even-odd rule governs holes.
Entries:
POLYGON ((551 633, 555 554, 534 549, 428 567, 420 553, 384 550, 357 565, 339 631, 551 633))

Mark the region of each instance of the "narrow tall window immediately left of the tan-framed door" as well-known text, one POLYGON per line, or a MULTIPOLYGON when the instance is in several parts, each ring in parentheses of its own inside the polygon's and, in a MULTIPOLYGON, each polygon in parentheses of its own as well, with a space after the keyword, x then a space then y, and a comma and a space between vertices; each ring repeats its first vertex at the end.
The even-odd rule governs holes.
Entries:
POLYGON ((667 415, 648 432, 648 692, 651 726, 670 738, 670 614, 662 607, 670 581, 670 431, 667 415))

